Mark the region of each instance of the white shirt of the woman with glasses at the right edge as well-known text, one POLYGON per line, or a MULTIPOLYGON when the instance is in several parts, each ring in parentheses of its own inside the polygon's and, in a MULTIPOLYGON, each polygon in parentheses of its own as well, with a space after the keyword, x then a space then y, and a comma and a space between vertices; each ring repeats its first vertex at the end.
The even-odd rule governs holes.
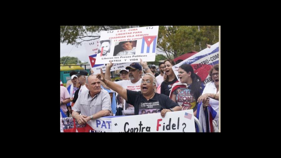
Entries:
MULTIPOLYGON (((204 88, 204 90, 202 92, 202 95, 205 94, 205 93, 211 93, 211 94, 217 93, 217 88, 216 88, 214 82, 209 82, 209 83, 206 84, 206 86, 205 86, 205 88, 204 88)), ((219 94, 219 91, 218 91, 217 94, 219 94)), ((209 104, 217 112, 217 115, 216 115, 214 120, 216 122, 218 122, 218 120, 219 120, 219 101, 210 98, 209 104)))

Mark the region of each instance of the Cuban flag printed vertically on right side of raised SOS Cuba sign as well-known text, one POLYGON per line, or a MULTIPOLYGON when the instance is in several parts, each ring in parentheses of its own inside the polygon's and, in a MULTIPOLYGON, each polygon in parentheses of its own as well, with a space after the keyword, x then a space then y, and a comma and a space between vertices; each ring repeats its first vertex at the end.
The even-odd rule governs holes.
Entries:
POLYGON ((141 43, 141 53, 156 52, 157 36, 143 36, 141 43))

